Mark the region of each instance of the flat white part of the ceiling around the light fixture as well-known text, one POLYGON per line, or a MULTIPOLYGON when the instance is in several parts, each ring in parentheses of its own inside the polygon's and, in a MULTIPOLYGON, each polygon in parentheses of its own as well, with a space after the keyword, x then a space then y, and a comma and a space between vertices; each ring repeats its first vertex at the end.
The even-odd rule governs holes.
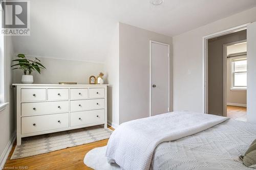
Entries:
POLYGON ((93 0, 81 8, 132 26, 175 36, 255 6, 255 0, 165 0, 159 6, 150 4, 150 0, 93 0))

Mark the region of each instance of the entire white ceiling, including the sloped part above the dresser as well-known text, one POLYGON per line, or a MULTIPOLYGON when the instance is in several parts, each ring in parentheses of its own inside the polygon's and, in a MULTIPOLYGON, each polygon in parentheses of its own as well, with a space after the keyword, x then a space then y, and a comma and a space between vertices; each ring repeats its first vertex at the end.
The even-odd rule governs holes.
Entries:
POLYGON ((33 0, 31 35, 12 38, 15 53, 104 62, 118 22, 175 36, 253 8, 255 0, 33 0))

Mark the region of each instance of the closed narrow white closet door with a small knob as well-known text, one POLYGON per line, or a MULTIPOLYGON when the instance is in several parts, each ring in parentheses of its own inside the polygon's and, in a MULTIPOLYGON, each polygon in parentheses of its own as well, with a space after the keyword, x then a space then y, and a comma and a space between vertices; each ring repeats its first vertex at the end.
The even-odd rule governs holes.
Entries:
POLYGON ((151 115, 169 112, 169 45, 151 41, 151 115))

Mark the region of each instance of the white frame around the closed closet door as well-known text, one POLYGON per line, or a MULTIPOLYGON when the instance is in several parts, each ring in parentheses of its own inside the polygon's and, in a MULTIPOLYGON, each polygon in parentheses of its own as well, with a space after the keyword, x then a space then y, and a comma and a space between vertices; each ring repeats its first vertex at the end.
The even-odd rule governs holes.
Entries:
POLYGON ((162 43, 162 42, 158 42, 158 41, 154 41, 154 40, 150 40, 150 116, 152 116, 152 69, 151 69, 151 50, 152 50, 152 43, 156 43, 156 44, 161 44, 161 45, 166 45, 168 46, 168 111, 170 111, 170 45, 166 44, 166 43, 162 43))

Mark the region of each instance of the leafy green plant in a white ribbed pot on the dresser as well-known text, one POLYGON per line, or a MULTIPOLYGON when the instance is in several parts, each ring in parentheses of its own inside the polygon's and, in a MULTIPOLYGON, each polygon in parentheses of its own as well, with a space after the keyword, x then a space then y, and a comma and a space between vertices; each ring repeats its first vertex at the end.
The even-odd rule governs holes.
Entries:
POLYGON ((41 74, 41 70, 40 69, 46 69, 46 67, 44 65, 42 65, 39 59, 35 58, 34 60, 29 60, 26 58, 26 55, 24 54, 18 54, 17 57, 19 59, 16 60, 12 60, 15 62, 18 62, 17 64, 12 65, 11 67, 15 67, 13 69, 22 69, 24 72, 24 75, 22 76, 22 83, 26 83, 26 84, 31 84, 33 83, 33 76, 31 75, 31 73, 36 70, 37 72, 39 72, 39 74, 41 74), (28 75, 27 75, 28 74, 28 75))

